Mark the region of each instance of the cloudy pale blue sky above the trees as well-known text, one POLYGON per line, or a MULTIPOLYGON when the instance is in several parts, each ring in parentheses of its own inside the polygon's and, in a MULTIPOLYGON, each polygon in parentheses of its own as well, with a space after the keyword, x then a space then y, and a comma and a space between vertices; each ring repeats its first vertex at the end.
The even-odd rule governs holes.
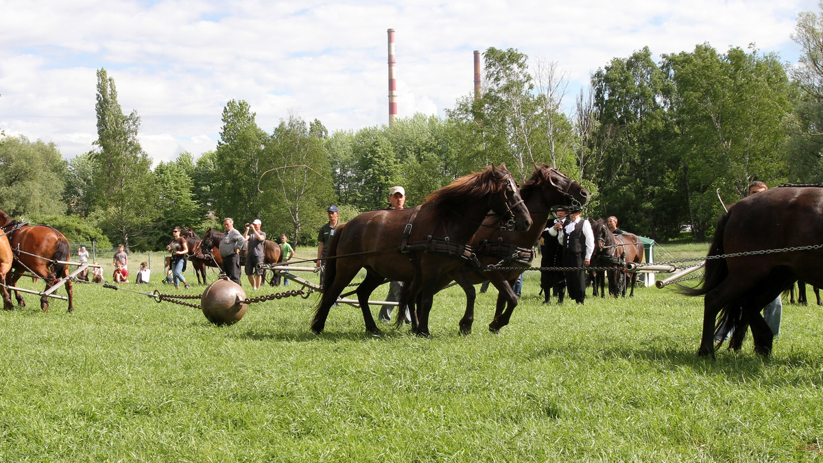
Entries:
POLYGON ((249 102, 266 132, 290 115, 329 132, 381 126, 388 29, 401 118, 444 116, 489 47, 556 63, 570 108, 593 72, 644 46, 659 58, 755 44, 797 63, 803 11, 816 0, 0 0, 0 128, 66 159, 92 150, 100 67, 155 163, 215 149, 229 100, 249 102))

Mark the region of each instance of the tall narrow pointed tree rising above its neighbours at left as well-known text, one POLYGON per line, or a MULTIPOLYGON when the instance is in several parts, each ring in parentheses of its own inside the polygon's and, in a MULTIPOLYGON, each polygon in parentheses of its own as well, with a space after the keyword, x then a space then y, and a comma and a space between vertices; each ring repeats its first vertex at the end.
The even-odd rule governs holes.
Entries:
POLYGON ((146 229, 155 219, 156 188, 151 159, 137 140, 140 118, 124 115, 114 79, 97 71, 97 150, 93 183, 94 216, 100 228, 126 248, 146 246, 146 229))

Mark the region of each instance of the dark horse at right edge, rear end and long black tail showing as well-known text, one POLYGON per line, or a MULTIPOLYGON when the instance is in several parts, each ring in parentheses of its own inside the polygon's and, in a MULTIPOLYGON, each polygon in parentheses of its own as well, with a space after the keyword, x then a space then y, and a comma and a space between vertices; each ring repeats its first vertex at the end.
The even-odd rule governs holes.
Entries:
POLYGON ((821 213, 823 189, 782 187, 745 197, 720 217, 702 285, 680 288, 704 296, 699 355, 714 358, 732 331, 739 350, 748 326, 755 352, 771 354, 774 333, 760 311, 798 279, 823 286, 821 213))

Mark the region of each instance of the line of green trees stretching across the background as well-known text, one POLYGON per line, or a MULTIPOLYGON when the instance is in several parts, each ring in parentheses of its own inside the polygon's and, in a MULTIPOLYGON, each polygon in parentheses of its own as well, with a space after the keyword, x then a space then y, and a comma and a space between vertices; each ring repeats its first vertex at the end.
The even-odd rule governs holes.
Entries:
POLYGON ((522 181, 545 162, 593 192, 589 216, 617 215, 656 239, 690 224, 705 239, 723 211, 718 196, 728 205, 754 180, 823 181, 821 17, 798 16, 795 65, 753 45, 698 44, 657 59, 646 47, 597 69, 570 105, 556 63, 495 48, 483 53, 481 95, 458 98, 442 118, 330 134, 290 114, 269 132, 246 101, 230 100, 215 150, 153 168, 139 116, 123 113, 100 69, 93 149, 67 162, 53 144, 5 138, 0 208, 137 250, 165 247, 174 225, 202 233, 224 217, 259 218, 270 236, 314 245, 329 204, 347 220, 387 206, 393 185, 413 206, 488 164, 522 181))

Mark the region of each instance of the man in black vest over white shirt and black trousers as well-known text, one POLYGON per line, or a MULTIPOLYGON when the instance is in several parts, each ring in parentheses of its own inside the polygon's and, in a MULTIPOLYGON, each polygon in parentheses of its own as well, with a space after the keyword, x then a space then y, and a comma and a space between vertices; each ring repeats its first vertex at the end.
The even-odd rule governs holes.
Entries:
POLYGON ((586 271, 594 252, 594 233, 588 220, 580 217, 580 207, 569 207, 562 224, 555 224, 557 240, 563 245, 563 266, 579 270, 565 271, 569 298, 582 304, 586 299, 586 271))

